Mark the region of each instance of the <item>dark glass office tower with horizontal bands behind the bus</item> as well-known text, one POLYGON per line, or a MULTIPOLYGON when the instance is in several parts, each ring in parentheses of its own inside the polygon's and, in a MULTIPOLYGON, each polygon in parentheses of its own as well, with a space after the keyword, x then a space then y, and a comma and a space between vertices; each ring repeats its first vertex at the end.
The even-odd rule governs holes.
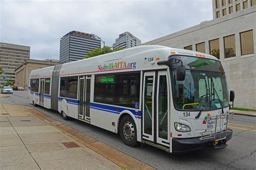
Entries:
POLYGON ((93 34, 71 31, 60 38, 59 61, 66 63, 82 60, 88 51, 100 48, 100 42, 93 34))

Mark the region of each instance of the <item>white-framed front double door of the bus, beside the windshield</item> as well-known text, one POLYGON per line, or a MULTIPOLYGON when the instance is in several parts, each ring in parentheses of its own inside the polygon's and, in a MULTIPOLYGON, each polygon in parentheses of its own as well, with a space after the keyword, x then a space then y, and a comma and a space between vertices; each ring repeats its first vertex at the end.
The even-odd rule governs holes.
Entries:
POLYGON ((170 146, 170 89, 167 71, 145 72, 143 86, 143 140, 170 146))

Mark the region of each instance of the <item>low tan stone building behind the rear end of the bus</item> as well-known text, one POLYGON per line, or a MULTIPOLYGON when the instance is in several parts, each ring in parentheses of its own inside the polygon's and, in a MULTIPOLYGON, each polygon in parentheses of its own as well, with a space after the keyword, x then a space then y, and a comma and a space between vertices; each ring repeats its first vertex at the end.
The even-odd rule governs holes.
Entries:
POLYGON ((15 76, 16 76, 16 84, 17 86, 24 87, 24 89, 28 88, 29 84, 29 74, 32 70, 44 68, 44 67, 50 67, 59 65, 60 62, 56 61, 42 61, 42 60, 26 60, 21 65, 16 67, 15 69, 15 76))

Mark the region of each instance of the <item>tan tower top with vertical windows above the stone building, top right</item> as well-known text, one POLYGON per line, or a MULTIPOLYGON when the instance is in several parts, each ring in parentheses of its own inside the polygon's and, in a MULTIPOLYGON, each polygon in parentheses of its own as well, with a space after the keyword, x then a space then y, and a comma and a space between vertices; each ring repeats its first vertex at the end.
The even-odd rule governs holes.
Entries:
POLYGON ((213 0, 213 18, 219 18, 256 5, 256 0, 213 0))

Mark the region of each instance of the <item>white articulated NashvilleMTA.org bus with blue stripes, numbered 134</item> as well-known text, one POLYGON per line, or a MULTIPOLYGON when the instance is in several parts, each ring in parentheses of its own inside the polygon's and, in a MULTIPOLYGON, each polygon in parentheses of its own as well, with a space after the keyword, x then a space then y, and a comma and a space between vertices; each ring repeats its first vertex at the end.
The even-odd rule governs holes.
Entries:
POLYGON ((234 92, 220 61, 185 49, 139 46, 33 70, 28 98, 118 133, 129 146, 184 153, 225 148, 232 137, 234 92))

